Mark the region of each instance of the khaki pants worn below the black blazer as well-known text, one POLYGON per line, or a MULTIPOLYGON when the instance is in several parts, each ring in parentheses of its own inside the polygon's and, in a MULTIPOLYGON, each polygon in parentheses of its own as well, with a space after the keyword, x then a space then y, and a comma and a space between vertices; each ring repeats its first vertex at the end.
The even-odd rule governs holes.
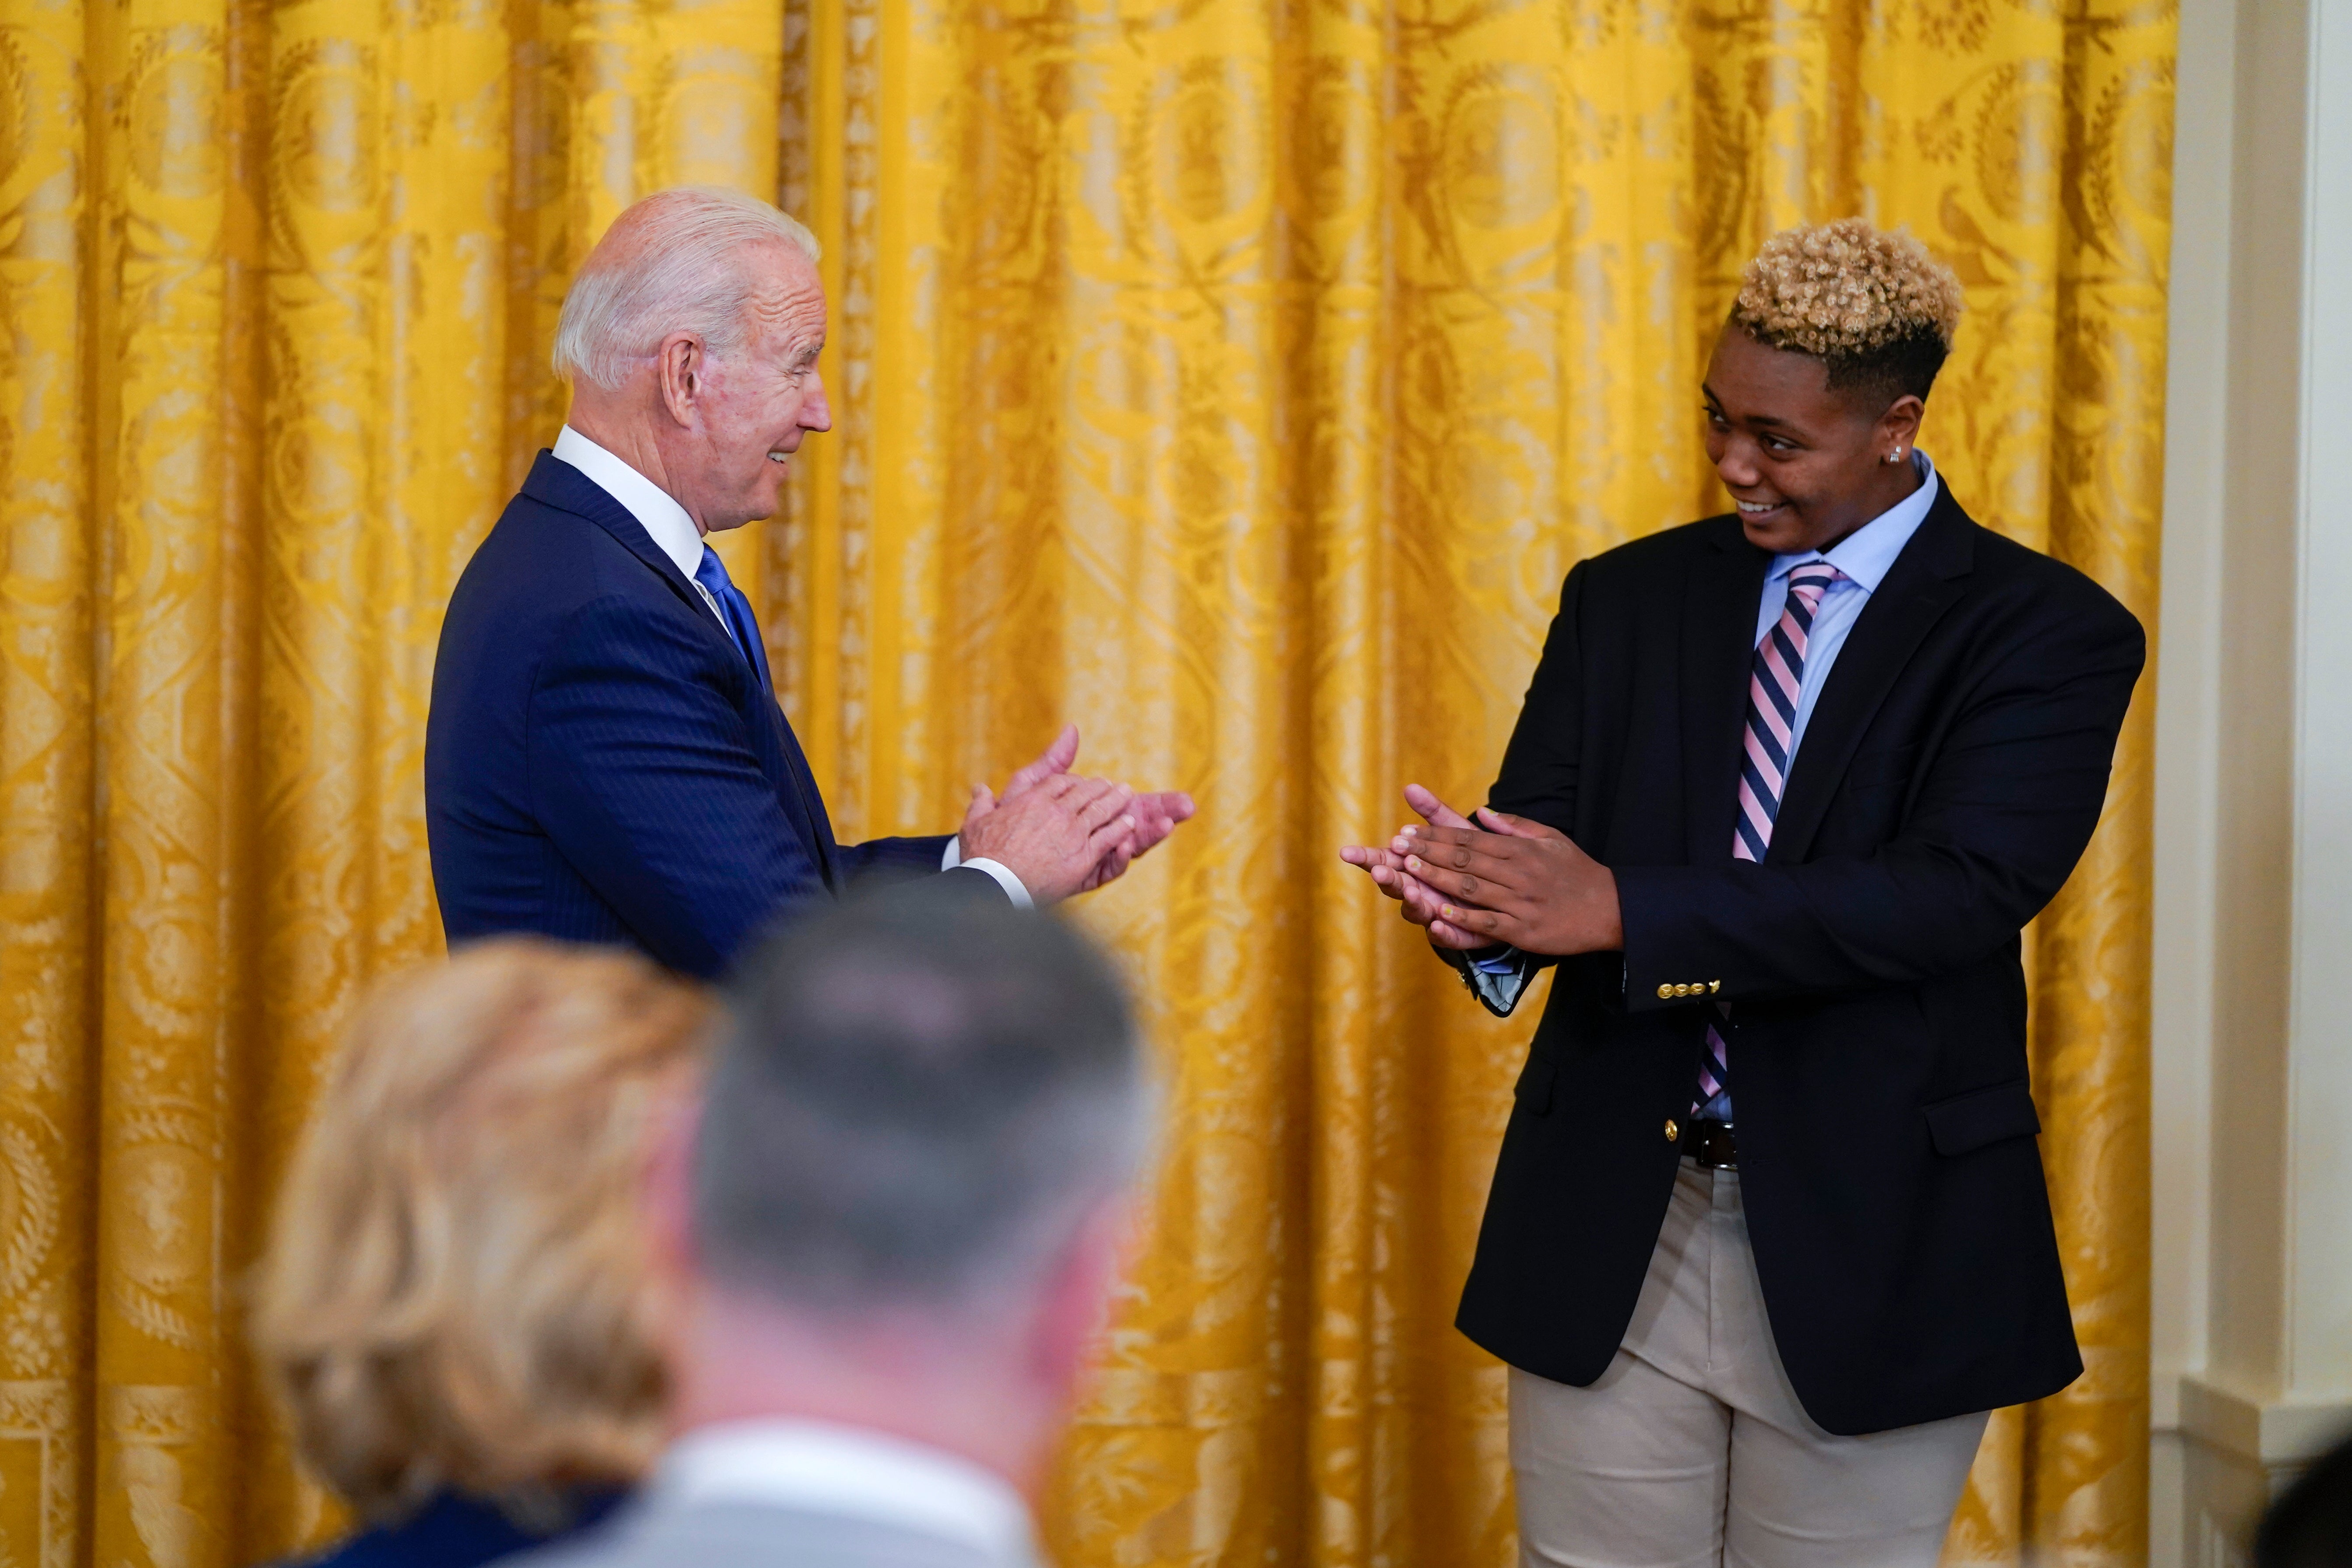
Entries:
POLYGON ((1985 1415, 1830 1436, 1780 1371, 1736 1171, 1684 1159, 1625 1345, 1510 1373, 1524 1568, 1936 1568, 1985 1415))

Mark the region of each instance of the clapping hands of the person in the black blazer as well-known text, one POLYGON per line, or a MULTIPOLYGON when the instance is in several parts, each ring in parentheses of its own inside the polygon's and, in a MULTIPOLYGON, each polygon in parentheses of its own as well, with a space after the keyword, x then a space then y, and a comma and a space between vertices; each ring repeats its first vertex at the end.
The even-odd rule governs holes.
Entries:
POLYGON ((1508 943, 1566 957, 1625 945, 1616 875, 1564 832, 1486 806, 1470 820, 1421 785, 1404 785, 1404 804, 1421 823, 1385 846, 1348 844, 1338 858, 1371 872, 1432 947, 1508 943))

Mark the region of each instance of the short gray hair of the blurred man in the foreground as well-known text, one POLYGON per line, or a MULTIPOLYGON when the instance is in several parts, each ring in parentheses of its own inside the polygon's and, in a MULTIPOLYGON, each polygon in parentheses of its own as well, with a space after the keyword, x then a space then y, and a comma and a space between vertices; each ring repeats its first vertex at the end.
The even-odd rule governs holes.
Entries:
POLYGON ((1051 914, 917 889, 739 971, 694 1157, 720 1286, 985 1321, 1143 1166, 1152 1086, 1105 957, 1051 914))

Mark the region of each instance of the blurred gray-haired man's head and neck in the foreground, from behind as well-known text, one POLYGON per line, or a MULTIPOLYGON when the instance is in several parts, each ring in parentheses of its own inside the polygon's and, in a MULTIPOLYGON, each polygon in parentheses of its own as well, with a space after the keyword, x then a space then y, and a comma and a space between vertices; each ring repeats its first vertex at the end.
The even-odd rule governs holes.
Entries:
POLYGON ((1044 914, 908 889, 790 926, 729 1013, 654 1178, 677 1429, 821 1420, 1033 1486, 1150 1133, 1110 966, 1044 914))

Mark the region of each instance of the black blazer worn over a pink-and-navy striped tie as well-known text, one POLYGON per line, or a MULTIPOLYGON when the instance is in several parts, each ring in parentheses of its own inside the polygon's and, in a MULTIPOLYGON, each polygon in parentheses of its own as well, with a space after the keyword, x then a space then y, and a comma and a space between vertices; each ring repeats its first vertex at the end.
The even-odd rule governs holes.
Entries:
POLYGON ((1552 1382, 1609 1371, 1715 1023, 1806 1413, 1851 1436, 2056 1394, 2082 1359, 2018 933, 2098 827, 2140 623, 1945 489, 1853 621, 1757 865, 1731 820, 1769 567, 1726 515, 1562 585, 1486 799, 1611 867, 1625 950, 1559 961, 1456 1321, 1552 1382))

